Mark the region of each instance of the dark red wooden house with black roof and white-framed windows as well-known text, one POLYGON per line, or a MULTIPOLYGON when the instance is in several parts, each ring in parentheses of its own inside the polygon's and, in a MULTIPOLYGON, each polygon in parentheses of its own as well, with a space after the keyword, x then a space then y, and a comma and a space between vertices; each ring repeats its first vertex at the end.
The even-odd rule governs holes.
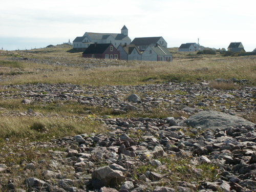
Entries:
POLYGON ((120 53, 112 44, 91 44, 83 53, 82 57, 100 59, 120 59, 120 53))

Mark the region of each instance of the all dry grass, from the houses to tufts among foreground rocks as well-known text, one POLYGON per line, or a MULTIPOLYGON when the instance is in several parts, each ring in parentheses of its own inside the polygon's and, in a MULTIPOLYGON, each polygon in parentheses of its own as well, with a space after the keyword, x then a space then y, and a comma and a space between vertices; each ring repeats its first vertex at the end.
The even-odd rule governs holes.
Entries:
MULTIPOLYGON (((85 109, 77 102, 53 102, 49 104, 21 103, 24 97, 20 96, 17 88, 8 85, 36 84, 36 83, 72 83, 92 86, 129 86, 137 84, 156 84, 165 82, 210 82, 216 89, 239 89, 232 82, 215 83, 217 78, 246 79, 246 86, 256 84, 255 57, 222 57, 217 55, 196 55, 196 53, 179 53, 178 48, 170 48, 173 53, 173 62, 150 61, 120 61, 103 59, 85 59, 82 52, 74 52, 71 46, 58 45, 44 49, 4 51, 0 50, 0 94, 13 96, 11 99, 0 100, 0 164, 11 167, 21 167, 10 171, 8 178, 24 175, 22 162, 50 159, 40 157, 47 154, 48 149, 34 148, 31 142, 50 142, 54 138, 74 136, 82 133, 102 133, 105 128, 96 117, 111 115, 112 117, 134 117, 136 113, 125 115, 112 114, 110 109, 85 109), (17 116, 15 114, 34 110, 43 116, 17 116), (87 114, 85 111, 91 113, 87 114), (6 142, 8 138, 9 142, 6 142), (15 156, 23 152, 24 156, 15 156), (38 155, 39 154, 39 155, 38 155)), ((45 93, 43 93, 45 94, 45 93)), ((174 92, 172 94, 178 94, 174 92)), ((182 93, 179 93, 182 94, 182 93)), ((230 105, 237 101, 230 101, 230 105)), ((242 102, 242 101, 241 101, 242 102)), ((184 114, 169 114, 161 111, 161 106, 148 114, 139 114, 143 117, 185 116, 184 114)), ((256 114, 250 114, 250 120, 256 122, 256 114)), ((61 148, 50 150, 61 151, 61 148)), ((167 161, 167 160, 164 160, 167 161)), ((166 162, 170 169, 186 170, 184 160, 180 162, 166 162)), ((143 167, 141 167, 143 168, 143 167)), ((215 173, 214 167, 200 167, 211 175, 215 173)), ((141 170, 144 172, 144 170, 141 170)), ((181 172, 183 174, 183 172, 181 172)), ((26 176, 34 177, 33 173, 26 176)), ((183 174, 184 175, 184 174, 183 174)), ((211 177, 211 176, 206 176, 211 177)), ((22 179, 19 179, 22 182, 22 179)), ((170 178, 175 180, 175 178, 170 178)))

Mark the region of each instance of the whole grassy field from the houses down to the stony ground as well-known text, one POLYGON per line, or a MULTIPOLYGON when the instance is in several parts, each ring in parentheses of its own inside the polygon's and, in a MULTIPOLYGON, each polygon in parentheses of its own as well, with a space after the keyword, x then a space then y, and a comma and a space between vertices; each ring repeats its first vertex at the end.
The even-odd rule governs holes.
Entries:
POLYGON ((247 79, 256 82, 255 59, 250 57, 198 56, 195 53, 177 53, 173 62, 108 61, 101 59, 97 68, 94 59, 81 57, 81 52, 70 53, 69 46, 29 51, 1 51, 0 84, 74 83, 95 86, 135 85, 168 81, 212 81, 216 78, 247 79), (10 60, 8 58, 19 58, 10 60), (21 58, 34 58, 22 60, 21 58), (40 62, 38 63, 37 60, 40 62), (46 60, 50 60, 51 63, 46 60), (60 65, 56 65, 60 63, 60 65), (66 63, 65 66, 61 63, 66 63))

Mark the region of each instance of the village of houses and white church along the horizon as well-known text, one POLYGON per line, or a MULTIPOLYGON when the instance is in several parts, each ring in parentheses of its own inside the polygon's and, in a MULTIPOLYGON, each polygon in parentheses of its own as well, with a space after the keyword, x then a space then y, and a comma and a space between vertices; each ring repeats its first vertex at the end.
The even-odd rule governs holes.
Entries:
MULTIPOLYGON (((73 40, 73 49, 83 51, 82 57, 121 59, 121 60, 148 60, 172 61, 173 56, 167 49, 167 42, 159 37, 136 37, 132 41, 128 36, 125 25, 121 33, 92 33, 86 32, 73 40)), ((179 52, 202 51, 199 43, 181 44, 179 52)), ((228 51, 245 52, 241 42, 231 42, 228 51)))

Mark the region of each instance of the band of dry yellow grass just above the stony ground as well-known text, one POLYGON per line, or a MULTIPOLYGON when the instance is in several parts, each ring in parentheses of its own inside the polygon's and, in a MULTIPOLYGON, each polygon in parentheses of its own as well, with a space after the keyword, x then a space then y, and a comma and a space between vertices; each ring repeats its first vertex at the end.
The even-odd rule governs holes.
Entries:
MULTIPOLYGON (((85 63, 83 58, 80 58, 85 63)), ((95 60, 97 62, 97 60, 95 60)), ((114 61, 113 61, 114 62, 114 61)), ((134 85, 163 81, 207 81, 216 78, 247 79, 256 82, 255 58, 225 58, 203 60, 174 60, 173 62, 127 62, 125 66, 116 65, 84 69, 79 67, 61 67, 37 63, 22 63, 23 69, 0 69, 3 74, 8 71, 17 75, 6 75, 1 84, 25 83, 74 83, 103 85, 134 85), (45 69, 38 71, 38 68, 45 69), (48 69, 48 70, 47 70, 48 69), (5 70, 5 72, 4 72, 5 70)))

